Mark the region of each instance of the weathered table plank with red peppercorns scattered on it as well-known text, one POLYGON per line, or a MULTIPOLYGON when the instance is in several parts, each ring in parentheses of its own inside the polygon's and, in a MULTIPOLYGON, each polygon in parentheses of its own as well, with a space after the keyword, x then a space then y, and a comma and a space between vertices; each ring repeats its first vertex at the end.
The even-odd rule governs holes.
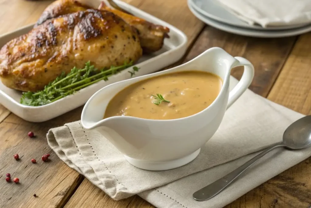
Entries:
MULTIPOLYGON (((67 121, 77 120, 78 116, 70 115, 75 113, 68 113, 67 121)), ((83 177, 60 161, 47 145, 45 134, 56 123, 63 123, 63 119, 34 124, 10 114, 0 124, 0 207, 59 207, 81 183, 83 177), (34 131, 36 137, 29 138, 28 131, 34 131), (48 153, 51 160, 43 162, 41 156, 48 153), (14 154, 21 159, 16 161, 14 154), (31 163, 32 158, 37 164, 31 163), (20 184, 7 183, 6 173, 18 177, 20 184)))

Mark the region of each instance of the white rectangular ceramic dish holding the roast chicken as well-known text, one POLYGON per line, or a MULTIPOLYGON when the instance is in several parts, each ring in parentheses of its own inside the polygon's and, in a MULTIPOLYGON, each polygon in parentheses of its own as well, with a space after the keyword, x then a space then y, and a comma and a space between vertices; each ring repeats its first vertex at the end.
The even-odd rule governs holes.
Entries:
MULTIPOLYGON (((134 77, 150 74, 160 70, 161 68, 176 62, 184 55, 187 49, 187 36, 182 31, 167 22, 164 22, 125 2, 119 0, 116 0, 115 2, 119 7, 127 10, 137 17, 144 18, 149 22, 160 24, 170 29, 170 38, 165 39, 163 48, 152 55, 143 56, 138 61, 135 66, 139 67, 140 70, 136 72, 134 77)), ((0 48, 13 38, 27 33, 32 29, 32 27, 33 24, 0 36, 0 48)), ((132 66, 129 69, 132 71, 132 66)), ((68 95, 63 99, 59 99, 53 103, 38 107, 20 104, 21 92, 7 88, 0 81, 0 103, 12 113, 26 121, 43 122, 85 104, 96 91, 104 86, 130 78, 131 75, 128 73, 128 70, 123 70, 122 72, 109 77, 108 81, 102 80, 81 89, 72 95, 68 95)))

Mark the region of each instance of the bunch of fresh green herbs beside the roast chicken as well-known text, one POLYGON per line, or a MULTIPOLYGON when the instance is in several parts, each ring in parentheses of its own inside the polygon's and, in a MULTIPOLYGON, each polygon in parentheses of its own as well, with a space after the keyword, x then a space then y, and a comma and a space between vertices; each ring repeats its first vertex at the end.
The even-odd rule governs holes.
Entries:
POLYGON ((121 66, 111 66, 109 69, 98 70, 88 61, 83 69, 74 67, 67 75, 63 72, 41 91, 35 93, 23 92, 20 103, 29 106, 52 103, 100 80, 107 81, 109 76, 128 68, 132 64, 131 61, 121 66))

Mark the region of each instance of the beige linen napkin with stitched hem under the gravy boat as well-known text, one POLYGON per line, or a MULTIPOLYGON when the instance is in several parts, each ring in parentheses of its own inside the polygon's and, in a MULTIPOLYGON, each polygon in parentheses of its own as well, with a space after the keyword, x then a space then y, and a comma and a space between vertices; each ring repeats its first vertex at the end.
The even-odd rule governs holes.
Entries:
MULTIPOLYGON (((157 207, 222 207, 309 157, 311 148, 276 149, 208 201, 197 202, 192 193, 242 165, 257 154, 253 152, 281 141, 287 126, 301 117, 247 90, 227 110, 220 128, 198 157, 167 171, 133 167, 97 131, 83 129, 80 121, 51 129, 47 138, 61 160, 115 200, 138 194, 157 207)), ((195 135, 189 139, 195 142, 195 135)))

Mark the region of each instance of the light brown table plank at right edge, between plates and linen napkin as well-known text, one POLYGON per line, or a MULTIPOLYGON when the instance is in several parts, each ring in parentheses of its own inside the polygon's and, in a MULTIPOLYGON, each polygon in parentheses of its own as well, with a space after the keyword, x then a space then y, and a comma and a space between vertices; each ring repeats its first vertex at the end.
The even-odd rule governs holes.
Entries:
POLYGON ((311 114, 311 33, 299 37, 268 99, 311 114))

